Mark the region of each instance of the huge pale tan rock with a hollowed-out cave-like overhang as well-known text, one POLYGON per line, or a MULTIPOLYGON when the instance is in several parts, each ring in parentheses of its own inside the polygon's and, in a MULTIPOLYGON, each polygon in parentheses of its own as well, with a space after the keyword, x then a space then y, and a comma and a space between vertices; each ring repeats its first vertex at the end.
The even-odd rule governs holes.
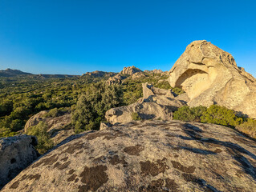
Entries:
POLYGON ((189 106, 218 104, 256 118, 256 79, 210 42, 189 44, 170 70, 169 82, 185 90, 189 106))

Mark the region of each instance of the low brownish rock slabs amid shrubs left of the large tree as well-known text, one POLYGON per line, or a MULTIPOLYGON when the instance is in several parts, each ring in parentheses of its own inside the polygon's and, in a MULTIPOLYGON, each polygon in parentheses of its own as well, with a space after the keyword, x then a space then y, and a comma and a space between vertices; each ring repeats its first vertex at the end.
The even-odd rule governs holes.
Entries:
POLYGON ((64 139, 68 138, 72 134, 75 134, 74 130, 67 129, 67 125, 71 123, 71 114, 66 113, 59 117, 46 118, 45 115, 48 113, 47 110, 43 110, 38 114, 32 116, 25 125, 25 133, 30 129, 31 126, 36 126, 39 122, 45 122, 48 126, 47 132, 51 133, 51 138, 54 144, 62 142, 64 139))

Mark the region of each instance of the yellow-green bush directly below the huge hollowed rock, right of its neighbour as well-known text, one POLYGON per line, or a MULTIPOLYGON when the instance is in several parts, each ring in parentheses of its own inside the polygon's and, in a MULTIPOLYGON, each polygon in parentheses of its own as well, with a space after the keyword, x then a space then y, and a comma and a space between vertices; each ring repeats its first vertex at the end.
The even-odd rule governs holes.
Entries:
POLYGON ((242 118, 238 118, 234 110, 229 110, 224 106, 212 105, 201 116, 201 122, 214 123, 221 126, 237 126, 242 123, 242 118))

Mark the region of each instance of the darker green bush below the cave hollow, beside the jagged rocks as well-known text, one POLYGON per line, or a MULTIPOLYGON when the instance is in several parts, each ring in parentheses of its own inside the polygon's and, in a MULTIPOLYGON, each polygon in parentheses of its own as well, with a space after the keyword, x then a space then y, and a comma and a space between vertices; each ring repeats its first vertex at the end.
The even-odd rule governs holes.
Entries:
POLYGON ((173 113, 173 119, 185 122, 200 122, 201 115, 207 110, 205 106, 182 106, 173 113))

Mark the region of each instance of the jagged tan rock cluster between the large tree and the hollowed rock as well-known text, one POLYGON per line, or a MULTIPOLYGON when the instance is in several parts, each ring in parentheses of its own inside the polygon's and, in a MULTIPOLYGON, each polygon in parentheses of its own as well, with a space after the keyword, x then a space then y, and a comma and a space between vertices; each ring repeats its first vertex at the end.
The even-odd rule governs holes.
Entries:
POLYGON ((141 119, 171 120, 173 111, 185 102, 174 98, 172 90, 164 90, 153 87, 148 83, 142 83, 143 98, 129 106, 121 106, 108 110, 105 118, 108 122, 130 122, 132 114, 137 113, 141 119))

